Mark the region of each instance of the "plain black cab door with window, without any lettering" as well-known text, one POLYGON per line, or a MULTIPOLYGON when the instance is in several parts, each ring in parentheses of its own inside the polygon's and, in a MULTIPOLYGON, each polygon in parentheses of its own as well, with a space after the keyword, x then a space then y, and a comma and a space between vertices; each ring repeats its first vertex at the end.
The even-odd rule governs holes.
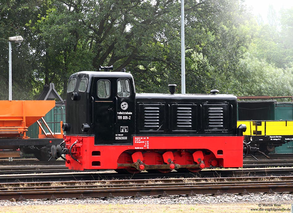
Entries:
POLYGON ((113 144, 113 84, 111 79, 94 82, 92 102, 92 126, 95 144, 113 144))

